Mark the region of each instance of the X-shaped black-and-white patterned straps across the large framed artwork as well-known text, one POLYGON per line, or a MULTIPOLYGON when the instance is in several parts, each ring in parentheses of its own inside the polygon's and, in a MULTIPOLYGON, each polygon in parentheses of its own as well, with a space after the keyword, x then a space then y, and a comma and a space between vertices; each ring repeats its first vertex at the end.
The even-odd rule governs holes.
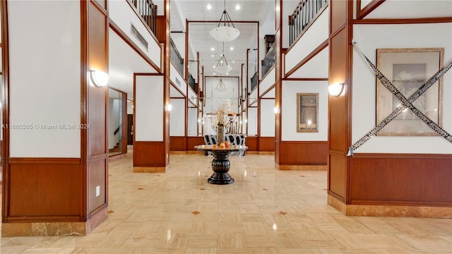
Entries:
POLYGON ((407 99, 399 90, 397 90, 396 87, 394 87, 393 83, 391 83, 391 81, 389 81, 388 78, 386 78, 383 75, 383 73, 381 73, 381 71, 379 71, 379 69, 376 68, 374 63, 371 63, 371 61, 367 58, 367 56, 364 55, 364 53, 361 51, 361 49, 359 49, 359 47, 357 46, 357 42, 352 41, 352 44, 353 44, 353 47, 355 47, 355 49, 357 49, 359 54, 361 54, 364 57, 364 59, 367 60, 367 62, 371 66, 371 68, 374 70, 376 77, 381 81, 381 84, 384 87, 386 87, 386 89, 388 89, 389 92, 391 92, 391 94, 396 96, 397 99, 402 104, 399 107, 397 107, 396 109, 394 109, 394 111, 391 114, 386 116, 386 118, 383 119, 381 121, 381 123, 379 123, 379 125, 375 126, 375 128, 373 128, 371 131, 369 131, 369 133, 367 133, 362 138, 360 138, 357 141, 357 143, 355 143, 351 147, 349 147, 347 156, 353 155, 353 150, 356 150, 358 147, 360 147, 362 144, 364 144, 367 140, 369 140, 371 137, 376 135, 376 133, 381 131, 381 129, 384 126, 386 126, 388 123, 393 121, 393 119, 395 119, 396 116, 398 116, 403 110, 405 110, 407 108, 410 109, 410 111, 412 111, 413 114, 415 114, 417 117, 419 117, 425 124, 427 124, 427 126, 429 126, 429 128, 432 128, 433 131, 435 131, 436 133, 441 135, 441 137, 448 140, 448 142, 452 143, 452 135, 451 134, 449 134, 447 131, 444 131, 443 128, 438 126, 438 124, 436 124, 434 121, 432 121, 432 119, 429 119, 419 109, 417 109, 417 107, 415 107, 412 104, 412 102, 415 102, 415 100, 417 98, 419 98, 422 94, 424 94, 424 92, 426 92, 430 87, 432 87, 432 85, 434 85, 434 83, 436 83, 436 81, 438 81, 439 78, 441 78, 441 76, 443 76, 444 73, 446 73, 452 67, 452 61, 448 62, 446 64, 446 66, 444 66, 444 68, 442 68, 440 71, 435 73, 432 76, 432 78, 429 78, 429 80, 427 80, 427 82, 424 83, 424 85, 422 85, 414 94, 412 94, 407 99))

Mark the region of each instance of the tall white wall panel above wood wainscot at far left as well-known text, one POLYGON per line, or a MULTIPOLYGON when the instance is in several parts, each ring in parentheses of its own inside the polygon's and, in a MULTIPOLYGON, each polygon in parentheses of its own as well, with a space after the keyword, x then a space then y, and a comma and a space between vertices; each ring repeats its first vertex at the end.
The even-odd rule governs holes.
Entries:
POLYGON ((81 157, 78 1, 8 1, 11 157, 81 157), (45 13, 45 15, 43 15, 45 13), (55 20, 59 20, 55 22, 55 20))

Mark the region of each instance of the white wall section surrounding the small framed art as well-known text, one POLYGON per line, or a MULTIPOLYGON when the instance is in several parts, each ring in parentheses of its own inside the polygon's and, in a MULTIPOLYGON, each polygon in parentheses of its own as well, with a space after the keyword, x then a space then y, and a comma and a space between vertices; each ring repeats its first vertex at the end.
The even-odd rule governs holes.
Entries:
POLYGON ((283 141, 328 140, 328 81, 283 81, 281 106, 283 141), (319 93, 319 132, 297 133, 297 93, 319 93))

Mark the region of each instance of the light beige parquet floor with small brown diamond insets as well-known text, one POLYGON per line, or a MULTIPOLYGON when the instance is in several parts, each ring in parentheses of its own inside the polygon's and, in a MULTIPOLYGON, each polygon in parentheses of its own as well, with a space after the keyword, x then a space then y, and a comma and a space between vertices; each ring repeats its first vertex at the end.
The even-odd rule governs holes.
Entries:
POLYGON ((346 217, 326 204, 326 171, 278 171, 273 155, 170 155, 166 173, 109 162, 109 217, 88 236, 0 238, 0 253, 452 253, 452 219, 346 217))

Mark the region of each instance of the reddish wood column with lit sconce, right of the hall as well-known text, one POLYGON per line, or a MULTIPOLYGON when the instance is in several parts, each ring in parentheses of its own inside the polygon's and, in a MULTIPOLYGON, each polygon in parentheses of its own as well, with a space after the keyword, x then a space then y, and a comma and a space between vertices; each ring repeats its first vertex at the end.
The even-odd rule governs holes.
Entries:
POLYGON ((330 1, 330 85, 345 83, 345 94, 329 97, 328 194, 345 203, 351 143, 352 1, 330 1))

